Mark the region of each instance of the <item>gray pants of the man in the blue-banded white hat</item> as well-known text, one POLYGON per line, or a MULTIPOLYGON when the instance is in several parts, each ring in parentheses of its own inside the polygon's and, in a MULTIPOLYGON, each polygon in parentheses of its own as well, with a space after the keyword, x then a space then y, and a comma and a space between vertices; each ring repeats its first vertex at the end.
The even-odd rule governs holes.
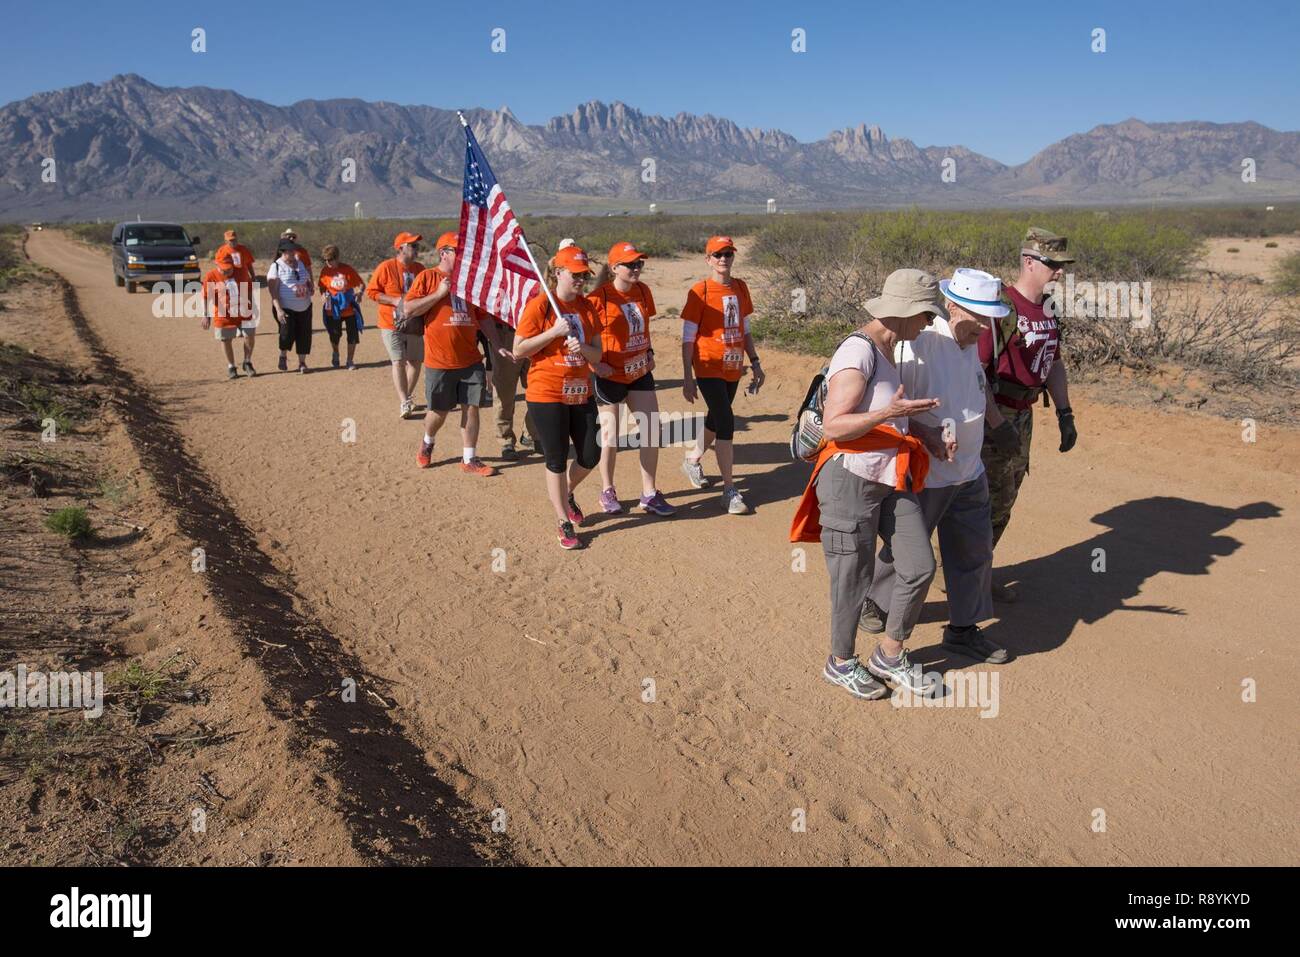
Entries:
MULTIPOLYGON (((939 554, 944 559, 948 588, 948 622, 965 627, 993 616, 993 525, 989 519, 988 476, 980 472, 961 485, 924 489, 916 498, 926 520, 926 534, 939 529, 939 554)), ((894 567, 881 550, 871 601, 889 610, 894 594, 894 567)))

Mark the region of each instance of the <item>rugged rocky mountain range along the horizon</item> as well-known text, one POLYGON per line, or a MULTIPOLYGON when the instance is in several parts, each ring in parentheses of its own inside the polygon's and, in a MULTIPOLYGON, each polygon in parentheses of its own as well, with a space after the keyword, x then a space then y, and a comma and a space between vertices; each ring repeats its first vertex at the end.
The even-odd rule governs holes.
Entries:
MULTIPOLYGON (((543 126, 508 107, 465 117, 512 204, 534 213, 1300 199, 1300 133, 1254 122, 1126 120, 1008 166, 864 124, 801 143, 623 103, 584 103, 543 126)), ((276 107, 125 74, 0 108, 0 218, 338 217, 356 202, 368 216, 455 215, 463 163, 452 109, 276 107)))

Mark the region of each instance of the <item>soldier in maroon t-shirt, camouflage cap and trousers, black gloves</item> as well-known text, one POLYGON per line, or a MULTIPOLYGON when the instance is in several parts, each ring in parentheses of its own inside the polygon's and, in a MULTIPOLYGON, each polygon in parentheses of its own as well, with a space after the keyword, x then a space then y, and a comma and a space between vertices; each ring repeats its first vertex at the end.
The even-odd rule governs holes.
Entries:
MULTIPOLYGON (((1006 303, 1011 311, 1005 319, 993 322, 991 329, 985 329, 979 341, 980 361, 984 363, 997 412, 1019 436, 1015 451, 1008 451, 1014 443, 1006 441, 984 442, 994 547, 1011 519, 1020 482, 1030 472, 1034 403, 1044 391, 1056 404, 1061 430, 1060 451, 1070 451, 1079 438, 1070 410, 1070 382, 1060 355, 1061 330, 1054 308, 1044 294, 1046 285, 1060 282, 1065 268, 1075 261, 1066 247, 1066 237, 1037 226, 1030 228, 1020 244, 1019 276, 1006 286, 1006 303)), ((998 425, 997 419, 996 415, 985 419, 991 434, 998 425)), ((1015 601, 1015 593, 1005 584, 994 583, 993 598, 1015 601)))

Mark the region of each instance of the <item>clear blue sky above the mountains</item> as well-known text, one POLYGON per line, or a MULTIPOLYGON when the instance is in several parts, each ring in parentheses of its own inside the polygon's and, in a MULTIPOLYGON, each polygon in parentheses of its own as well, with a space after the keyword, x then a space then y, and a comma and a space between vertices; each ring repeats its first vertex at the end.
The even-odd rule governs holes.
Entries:
POLYGON ((1300 129, 1300 3, 23 3, 0 101, 139 73, 276 104, 356 96, 510 105, 529 124, 586 100, 714 113, 801 140, 876 124, 919 146, 1020 163, 1130 116, 1300 129), (170 8, 177 8, 174 12, 170 8), (578 21, 558 9, 581 12, 578 21), (74 12, 75 10, 75 12, 74 12), (138 10, 139 13, 133 13, 138 10), (190 49, 207 30, 208 52, 190 49), (490 51, 494 27, 506 52, 490 51), (790 49, 806 30, 807 52, 790 49), (1106 31, 1106 52, 1091 49, 1106 31))

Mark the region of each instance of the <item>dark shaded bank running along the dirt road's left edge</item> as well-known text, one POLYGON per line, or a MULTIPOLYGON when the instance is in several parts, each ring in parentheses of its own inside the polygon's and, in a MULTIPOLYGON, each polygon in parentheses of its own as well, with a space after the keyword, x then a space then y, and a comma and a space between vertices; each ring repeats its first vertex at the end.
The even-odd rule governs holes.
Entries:
POLYGON ((292 576, 257 546, 157 399, 105 348, 72 283, 61 276, 57 282, 140 462, 181 531, 205 553, 217 607, 274 689, 264 698, 266 710, 292 726, 304 753, 316 752, 309 757, 320 765, 358 852, 374 863, 512 862, 510 844, 474 823, 473 807, 434 774, 387 702, 376 706, 373 696, 384 701, 381 679, 306 611, 292 576), (356 683, 355 703, 342 700, 346 679, 356 683))

